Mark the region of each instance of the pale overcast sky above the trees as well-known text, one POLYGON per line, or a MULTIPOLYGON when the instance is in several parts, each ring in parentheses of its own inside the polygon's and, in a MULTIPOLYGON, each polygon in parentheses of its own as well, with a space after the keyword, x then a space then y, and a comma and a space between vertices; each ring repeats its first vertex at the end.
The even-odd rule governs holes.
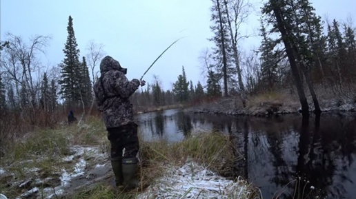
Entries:
MULTIPOLYGON (((313 0, 317 14, 345 21, 356 20, 355 0, 313 0)), ((257 12, 261 4, 253 1, 257 12)), ((140 78, 147 67, 175 39, 187 36, 172 46, 146 74, 151 82, 157 74, 169 89, 184 65, 188 80, 205 84, 199 55, 212 43, 210 0, 1 0, 1 38, 6 32, 27 39, 34 34, 50 35, 43 63, 57 65, 63 60, 69 15, 73 18, 75 36, 85 56, 88 41, 104 45, 106 54, 128 68, 128 78, 140 78)), ((248 34, 259 28, 257 12, 250 14, 242 31, 248 34)), ((355 24, 354 24, 355 25, 355 24)), ((247 51, 257 48, 259 38, 249 38, 241 45, 247 51)))

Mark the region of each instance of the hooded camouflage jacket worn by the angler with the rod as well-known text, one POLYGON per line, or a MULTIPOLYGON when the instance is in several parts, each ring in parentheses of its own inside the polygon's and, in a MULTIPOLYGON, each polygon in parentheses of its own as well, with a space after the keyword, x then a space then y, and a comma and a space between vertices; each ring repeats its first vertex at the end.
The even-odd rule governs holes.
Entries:
POLYGON ((101 76, 94 85, 95 99, 107 129, 133 122, 129 97, 140 82, 135 78, 128 81, 122 69, 119 61, 110 56, 104 57, 100 63, 101 76))

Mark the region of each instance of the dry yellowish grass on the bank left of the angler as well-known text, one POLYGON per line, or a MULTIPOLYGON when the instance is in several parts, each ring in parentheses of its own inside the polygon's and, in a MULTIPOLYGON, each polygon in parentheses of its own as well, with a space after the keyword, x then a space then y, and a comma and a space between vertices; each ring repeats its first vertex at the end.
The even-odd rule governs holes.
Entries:
POLYGON ((79 127, 63 125, 55 129, 37 129, 14 139, 11 145, 7 145, 0 161, 0 167, 10 171, 13 176, 0 179, 1 190, 7 189, 2 185, 7 185, 8 180, 46 178, 58 175, 61 169, 72 168, 74 163, 63 161, 63 157, 72 153, 70 150, 72 145, 102 145, 107 148, 106 131, 101 121, 89 117, 79 127), (33 176, 34 172, 31 169, 39 171, 40 176, 33 176))

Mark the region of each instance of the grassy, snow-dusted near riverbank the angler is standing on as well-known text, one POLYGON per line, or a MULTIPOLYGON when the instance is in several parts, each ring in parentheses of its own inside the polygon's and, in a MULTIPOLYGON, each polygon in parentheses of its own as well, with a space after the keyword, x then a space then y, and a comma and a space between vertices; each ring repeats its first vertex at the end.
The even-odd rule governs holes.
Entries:
POLYGON ((8 198, 259 198, 257 189, 235 172, 242 157, 226 134, 195 134, 170 145, 141 138, 140 147, 141 186, 117 193, 110 186, 110 145, 99 118, 31 132, 17 138, 1 158, 1 193, 8 198))

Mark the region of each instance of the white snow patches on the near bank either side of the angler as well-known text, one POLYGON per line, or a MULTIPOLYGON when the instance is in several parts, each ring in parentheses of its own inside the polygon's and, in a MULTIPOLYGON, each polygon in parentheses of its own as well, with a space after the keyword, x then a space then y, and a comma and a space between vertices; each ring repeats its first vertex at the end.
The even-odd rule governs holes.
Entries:
MULTIPOLYGON (((57 198, 66 194, 66 190, 73 186, 73 180, 86 178, 88 172, 88 158, 96 159, 94 168, 106 167, 103 160, 107 158, 107 154, 100 152, 99 148, 95 147, 72 147, 73 154, 66 156, 63 161, 73 162, 75 165, 72 171, 63 169, 59 176, 60 185, 57 187, 46 187, 41 189, 37 186, 29 187, 17 198, 36 197, 40 198, 57 198)), ((32 168, 29 170, 36 170, 32 168)), ((1 174, 5 173, 1 169, 1 174)), ((48 178, 47 180, 50 180, 48 178)), ((46 181, 46 179, 34 179, 33 182, 46 181)), ((21 182, 20 184, 27 183, 21 182)), ((32 182, 31 182, 32 183, 32 182)), ((33 185, 33 184, 32 184, 33 185)), ((214 172, 202 167, 191 160, 188 160, 186 165, 182 167, 168 167, 166 176, 157 179, 153 182, 144 193, 141 193, 138 198, 248 198, 252 195, 251 187, 248 182, 241 178, 228 180, 215 174, 214 172)))

